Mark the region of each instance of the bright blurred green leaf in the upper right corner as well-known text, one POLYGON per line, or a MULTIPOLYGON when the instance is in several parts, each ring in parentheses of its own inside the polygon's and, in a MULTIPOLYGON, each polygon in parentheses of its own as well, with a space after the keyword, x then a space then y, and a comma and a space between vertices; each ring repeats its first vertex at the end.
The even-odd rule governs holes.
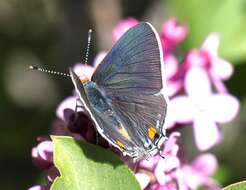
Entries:
POLYGON ((219 53, 231 61, 246 58, 245 0, 169 0, 169 15, 186 22, 190 33, 185 48, 200 47, 210 32, 221 37, 219 53))

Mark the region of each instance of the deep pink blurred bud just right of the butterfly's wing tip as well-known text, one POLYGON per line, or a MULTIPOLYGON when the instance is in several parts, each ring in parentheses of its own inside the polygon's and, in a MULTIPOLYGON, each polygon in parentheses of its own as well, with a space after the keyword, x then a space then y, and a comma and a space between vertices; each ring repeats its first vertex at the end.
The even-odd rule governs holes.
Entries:
POLYGON ((188 28, 179 25, 175 18, 166 21, 161 29, 161 40, 164 52, 169 52, 175 45, 181 43, 186 37, 188 28))

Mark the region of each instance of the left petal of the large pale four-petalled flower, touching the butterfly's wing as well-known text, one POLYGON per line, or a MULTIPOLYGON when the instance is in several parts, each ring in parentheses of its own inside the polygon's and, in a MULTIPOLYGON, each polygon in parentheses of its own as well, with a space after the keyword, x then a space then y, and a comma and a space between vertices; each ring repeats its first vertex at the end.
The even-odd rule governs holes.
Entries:
POLYGON ((195 115, 192 100, 187 96, 177 96, 169 103, 168 118, 178 123, 191 122, 195 115))

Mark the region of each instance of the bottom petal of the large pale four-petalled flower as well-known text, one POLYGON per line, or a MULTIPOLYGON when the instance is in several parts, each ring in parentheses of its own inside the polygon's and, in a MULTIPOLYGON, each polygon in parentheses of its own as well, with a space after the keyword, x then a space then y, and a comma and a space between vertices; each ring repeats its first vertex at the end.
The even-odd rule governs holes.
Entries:
POLYGON ((197 115, 193 125, 196 145, 199 150, 208 150, 221 140, 218 126, 207 115, 197 115))

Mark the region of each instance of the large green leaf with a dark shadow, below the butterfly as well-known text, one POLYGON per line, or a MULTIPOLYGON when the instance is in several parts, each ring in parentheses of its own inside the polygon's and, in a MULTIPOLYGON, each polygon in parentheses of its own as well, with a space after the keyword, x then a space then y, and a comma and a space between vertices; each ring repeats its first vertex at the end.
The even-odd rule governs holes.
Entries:
POLYGON ((71 137, 52 136, 52 140, 54 163, 61 176, 51 190, 140 190, 133 173, 111 151, 71 137))

